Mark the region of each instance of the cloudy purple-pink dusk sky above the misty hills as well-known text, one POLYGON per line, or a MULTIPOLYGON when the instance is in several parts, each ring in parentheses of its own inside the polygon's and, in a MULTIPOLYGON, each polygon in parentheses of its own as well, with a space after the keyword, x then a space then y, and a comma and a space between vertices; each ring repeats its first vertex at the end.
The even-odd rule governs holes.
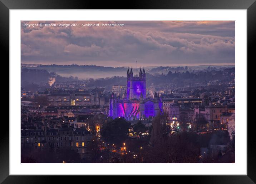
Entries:
POLYGON ((234 64, 235 21, 21 21, 22 63, 133 66, 136 58, 138 67, 234 64), (124 26, 82 26, 90 23, 124 26))

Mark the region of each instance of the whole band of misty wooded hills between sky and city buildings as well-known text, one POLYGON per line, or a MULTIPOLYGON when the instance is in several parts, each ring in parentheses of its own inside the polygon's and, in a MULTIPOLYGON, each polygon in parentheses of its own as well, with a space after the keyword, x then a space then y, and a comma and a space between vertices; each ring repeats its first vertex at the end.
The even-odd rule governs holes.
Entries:
MULTIPOLYGON (((178 66, 145 67, 147 87, 165 85, 184 87, 208 81, 227 82, 235 75, 231 66, 178 66), (233 76, 231 76, 233 73, 233 76)), ((105 87, 111 90, 113 85, 126 84, 127 67, 103 67, 95 65, 40 65, 21 66, 21 85, 29 91, 51 86, 53 83, 85 81, 87 87, 105 87)), ((136 74, 135 68, 133 73, 136 74)), ((137 68, 137 74, 139 68, 137 68)))

